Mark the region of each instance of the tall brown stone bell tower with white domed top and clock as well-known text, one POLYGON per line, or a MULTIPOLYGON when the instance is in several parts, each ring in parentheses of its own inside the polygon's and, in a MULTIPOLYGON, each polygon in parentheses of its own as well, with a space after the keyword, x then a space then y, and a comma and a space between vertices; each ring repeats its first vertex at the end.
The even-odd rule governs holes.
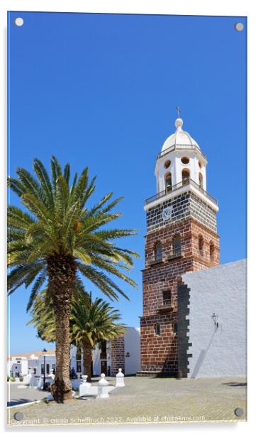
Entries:
POLYGON ((181 274, 218 265, 218 202, 206 191, 206 155, 175 121, 157 155, 157 193, 145 201, 140 375, 178 373, 177 287, 181 274))

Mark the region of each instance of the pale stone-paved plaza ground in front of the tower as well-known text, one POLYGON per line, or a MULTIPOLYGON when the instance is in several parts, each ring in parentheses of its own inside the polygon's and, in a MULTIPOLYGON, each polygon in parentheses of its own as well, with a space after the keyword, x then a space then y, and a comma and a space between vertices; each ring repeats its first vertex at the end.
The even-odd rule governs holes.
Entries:
MULTIPOLYGON (((108 378, 111 383, 115 379, 108 378)), ((63 405, 40 402, 11 407, 11 425, 121 424, 145 422, 208 422, 247 420, 245 378, 125 378, 109 399, 71 400, 63 405), (242 417, 235 409, 242 408, 242 417), (13 420, 22 412, 23 420, 13 420)))

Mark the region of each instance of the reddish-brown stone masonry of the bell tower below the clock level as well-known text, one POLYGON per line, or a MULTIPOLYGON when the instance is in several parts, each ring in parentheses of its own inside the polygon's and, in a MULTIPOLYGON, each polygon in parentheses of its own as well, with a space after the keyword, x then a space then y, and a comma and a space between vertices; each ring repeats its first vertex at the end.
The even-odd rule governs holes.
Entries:
MULTIPOLYGON (((178 285, 181 275, 198 269, 218 265, 219 237, 193 218, 178 220, 148 233, 145 240, 145 269, 142 271, 143 316, 141 318, 141 371, 176 375, 178 370, 177 334, 174 324, 178 320, 178 285), (181 257, 169 259, 173 240, 181 236, 181 257), (203 237, 203 252, 198 247, 203 237), (154 262, 155 245, 162 246, 162 261, 154 262), (210 243, 214 255, 210 257, 210 243), (169 290, 172 309, 161 309, 162 292, 169 290), (155 334, 155 324, 160 324, 160 335, 155 334)), ((177 321, 178 322, 178 321, 177 321)))

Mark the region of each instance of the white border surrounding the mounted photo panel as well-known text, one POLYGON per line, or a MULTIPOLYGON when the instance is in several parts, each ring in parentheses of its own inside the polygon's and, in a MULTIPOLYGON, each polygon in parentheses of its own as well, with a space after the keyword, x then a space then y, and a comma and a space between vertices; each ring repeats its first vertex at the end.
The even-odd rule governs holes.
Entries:
MULTIPOLYGON (((6 185, 6 11, 67 11, 67 12, 109 12, 109 13, 124 13, 124 14, 179 14, 179 15, 214 15, 214 16, 247 16, 248 17, 248 53, 249 53, 249 61, 248 61, 248 186, 249 186, 249 219, 248 219, 248 230, 249 230, 249 272, 248 272, 248 291, 249 291, 249 306, 248 306, 248 319, 249 319, 249 330, 248 330, 248 345, 249 345, 249 356, 248 356, 248 378, 249 378, 249 405, 248 405, 248 422, 240 422, 238 424, 188 424, 182 426, 181 424, 173 424, 168 426, 167 424, 160 424, 159 426, 142 426, 136 427, 138 430, 145 429, 145 432, 153 434, 208 434, 213 437, 217 436, 221 432, 229 432, 234 433, 234 435, 242 436, 243 433, 251 432, 251 429, 254 429, 256 426, 255 418, 257 415, 256 405, 257 405, 257 397, 255 394, 255 386, 256 386, 256 377, 257 377, 257 327, 251 326, 251 321, 257 320, 257 277, 255 276, 255 272, 257 270, 257 251, 255 251, 257 247, 257 213, 256 213, 256 205, 257 205, 257 181, 254 178, 257 173, 257 63, 255 62, 257 58, 257 14, 256 14, 256 2, 254 0, 37 0, 37 1, 25 1, 25 0, 16 0, 16 1, 6 1, 1 0, 0 2, 0 23, 1 23, 1 81, 0 81, 0 96, 1 96, 1 109, 0 109, 0 133, 1 133, 1 160, 0 160, 0 183, 1 183, 1 191, 0 191, 0 214, 1 214, 1 242, 2 248, 5 251, 5 208, 6 208, 6 199, 4 187, 6 185), (4 99, 3 99, 4 97, 4 99), (256 148, 256 149, 254 149, 256 148), (252 385, 250 383, 252 382, 252 385)), ((218 114, 218 118, 221 117, 218 114)), ((245 148, 243 147, 243 154, 245 154, 245 148)), ((235 176, 237 178, 237 175, 235 176)), ((237 206, 236 206, 237 209, 237 206)), ((236 236, 237 238, 237 236, 236 236)), ((6 299, 4 297, 5 290, 5 268, 3 263, 3 255, 2 252, 1 257, 1 310, 4 311, 6 306, 6 299)), ((237 317, 237 316, 236 316, 237 317)), ((1 321, 6 321, 6 312, 3 314, 1 321)), ((253 323, 254 324, 254 323, 253 323)), ((6 331, 4 329, 4 324, 1 324, 1 335, 2 342, 1 345, 6 345, 6 331)), ((6 375, 6 366, 5 366, 5 351, 4 354, 1 355, 2 365, 1 368, 2 373, 1 377, 6 375)), ((1 379, 2 380, 2 379, 1 379)), ((2 392, 3 394, 3 392, 2 392)), ((1 397, 3 402, 2 412, 2 424, 6 422, 6 409, 5 409, 5 400, 1 397)), ((5 429, 5 428, 4 428, 5 429)), ((26 428, 22 428, 21 432, 26 432, 26 428)), ((57 433, 65 433, 64 429, 60 432, 55 428, 55 431, 49 428, 44 428, 42 432, 37 428, 37 433, 47 433, 47 434, 57 434, 57 433)), ((34 429, 35 430, 35 429, 34 429)), ((82 432, 87 434, 94 435, 97 432, 97 429, 94 428, 94 432, 91 432, 89 427, 86 429, 82 428, 82 430, 78 431, 78 429, 74 429, 76 432, 82 432)), ((125 434, 129 435, 131 432, 135 431, 135 427, 132 425, 131 427, 116 427, 116 430, 112 428, 108 428, 108 431, 103 428, 99 428, 99 431, 104 431, 105 434, 113 435, 113 434, 125 434)), ((7 429, 5 429, 7 431, 7 429)), ((33 430, 30 430, 33 432, 33 430)), ((72 429, 69 427, 69 431, 72 432, 72 429)), ((143 430, 142 430, 143 432, 143 430)), ((16 433, 16 432, 9 432, 16 433)))

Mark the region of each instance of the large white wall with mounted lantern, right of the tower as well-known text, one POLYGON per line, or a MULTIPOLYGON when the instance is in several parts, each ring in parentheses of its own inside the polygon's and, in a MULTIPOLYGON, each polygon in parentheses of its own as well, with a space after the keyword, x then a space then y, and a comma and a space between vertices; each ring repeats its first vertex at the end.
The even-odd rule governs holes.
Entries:
POLYGON ((190 289, 188 377, 247 375, 246 269, 239 260, 182 276, 190 289))

